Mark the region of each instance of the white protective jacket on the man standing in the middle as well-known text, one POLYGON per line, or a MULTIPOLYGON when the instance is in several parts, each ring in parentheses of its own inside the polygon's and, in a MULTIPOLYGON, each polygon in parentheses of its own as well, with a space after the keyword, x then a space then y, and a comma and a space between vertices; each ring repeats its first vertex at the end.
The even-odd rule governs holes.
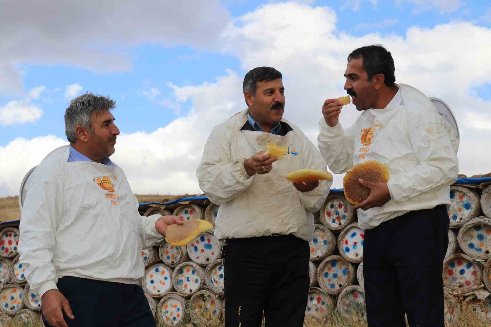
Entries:
POLYGON ((282 119, 285 136, 241 130, 248 110, 213 128, 196 171, 199 186, 211 202, 219 204, 215 236, 220 240, 293 234, 311 241, 312 212, 324 203, 332 181, 320 181, 309 192, 300 192, 285 176, 301 168, 327 171, 319 150, 298 127, 282 119), (273 163, 267 174, 249 176, 244 161, 266 143, 286 146, 288 153, 273 163))

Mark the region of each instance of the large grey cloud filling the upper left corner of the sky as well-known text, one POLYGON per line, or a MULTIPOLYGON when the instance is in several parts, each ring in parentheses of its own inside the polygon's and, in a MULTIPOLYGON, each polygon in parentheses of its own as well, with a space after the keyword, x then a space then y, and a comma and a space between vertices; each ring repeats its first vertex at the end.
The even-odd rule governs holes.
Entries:
POLYGON ((125 71, 132 67, 131 47, 211 49, 229 20, 220 0, 2 1, 0 94, 22 92, 19 64, 125 71))

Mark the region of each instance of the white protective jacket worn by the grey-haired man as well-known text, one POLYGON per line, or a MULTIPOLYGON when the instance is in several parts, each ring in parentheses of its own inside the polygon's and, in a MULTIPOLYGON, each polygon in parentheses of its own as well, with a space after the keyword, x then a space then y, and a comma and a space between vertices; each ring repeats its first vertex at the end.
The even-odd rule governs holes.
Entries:
POLYGON ((162 238, 160 215, 139 215, 118 165, 67 162, 69 153, 55 149, 29 177, 19 253, 30 288, 42 297, 62 276, 136 284, 141 249, 162 238))

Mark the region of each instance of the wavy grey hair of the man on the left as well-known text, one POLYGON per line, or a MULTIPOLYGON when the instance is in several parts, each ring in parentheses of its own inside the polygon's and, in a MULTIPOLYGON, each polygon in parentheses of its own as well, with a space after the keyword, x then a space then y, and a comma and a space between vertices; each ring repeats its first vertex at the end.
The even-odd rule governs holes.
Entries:
POLYGON ((65 135, 70 143, 77 142, 75 128, 80 125, 86 128, 91 134, 92 122, 90 116, 96 110, 110 110, 116 107, 116 102, 109 97, 99 96, 87 92, 70 101, 70 106, 65 111, 65 135))

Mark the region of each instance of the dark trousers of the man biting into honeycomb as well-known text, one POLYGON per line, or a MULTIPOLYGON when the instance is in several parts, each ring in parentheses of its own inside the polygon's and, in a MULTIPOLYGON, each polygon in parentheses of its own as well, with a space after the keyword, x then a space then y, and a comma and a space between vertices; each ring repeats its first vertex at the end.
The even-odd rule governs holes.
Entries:
POLYGON ((411 211, 365 231, 363 277, 369 327, 443 327, 444 205, 411 211))

